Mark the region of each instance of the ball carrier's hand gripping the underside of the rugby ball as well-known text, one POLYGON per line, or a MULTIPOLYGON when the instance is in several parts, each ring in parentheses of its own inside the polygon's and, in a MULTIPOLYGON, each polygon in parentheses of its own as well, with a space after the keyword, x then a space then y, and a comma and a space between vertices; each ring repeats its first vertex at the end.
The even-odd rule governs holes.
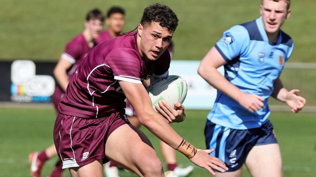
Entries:
POLYGON ((158 113, 163 115, 167 122, 182 122, 186 118, 185 107, 179 103, 174 103, 173 109, 166 101, 159 101, 156 105, 156 110, 158 113))

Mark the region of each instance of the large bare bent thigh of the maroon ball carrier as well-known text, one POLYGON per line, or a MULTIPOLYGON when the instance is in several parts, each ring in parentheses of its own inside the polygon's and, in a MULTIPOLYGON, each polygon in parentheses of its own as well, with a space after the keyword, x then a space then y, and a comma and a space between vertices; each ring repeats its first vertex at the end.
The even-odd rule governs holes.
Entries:
POLYGON ((139 171, 162 170, 149 139, 139 129, 125 124, 115 129, 105 145, 105 155, 139 175, 139 171))

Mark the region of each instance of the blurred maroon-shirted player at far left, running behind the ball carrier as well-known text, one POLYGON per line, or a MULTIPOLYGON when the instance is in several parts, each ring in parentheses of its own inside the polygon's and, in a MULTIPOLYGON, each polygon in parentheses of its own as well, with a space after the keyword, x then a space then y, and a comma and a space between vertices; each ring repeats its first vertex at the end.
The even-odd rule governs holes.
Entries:
MULTIPOLYGON (((93 9, 86 15, 84 23, 85 29, 82 33, 75 36, 65 48, 56 67, 54 69, 54 76, 57 80, 55 93, 53 95, 54 106, 57 111, 58 103, 63 97, 67 85, 69 83, 69 76, 74 73, 76 66, 89 53, 89 51, 96 45, 95 39, 103 29, 104 16, 98 9, 93 9)), ((34 152, 30 154, 31 174, 33 177, 40 177, 42 166, 45 161, 57 155, 55 145, 51 145, 41 152, 34 152)), ((60 161, 56 163, 56 167, 49 177, 61 177, 62 164, 60 161)))

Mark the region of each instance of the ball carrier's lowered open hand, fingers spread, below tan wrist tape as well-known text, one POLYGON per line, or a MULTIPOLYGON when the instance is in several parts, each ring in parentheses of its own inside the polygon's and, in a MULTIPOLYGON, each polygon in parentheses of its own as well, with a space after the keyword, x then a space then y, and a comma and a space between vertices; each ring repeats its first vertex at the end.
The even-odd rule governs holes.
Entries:
POLYGON ((212 175, 216 175, 214 170, 219 172, 226 172, 228 168, 223 163, 223 161, 209 155, 209 153, 213 151, 214 149, 198 149, 198 152, 190 159, 190 161, 192 161, 199 167, 205 168, 212 175))

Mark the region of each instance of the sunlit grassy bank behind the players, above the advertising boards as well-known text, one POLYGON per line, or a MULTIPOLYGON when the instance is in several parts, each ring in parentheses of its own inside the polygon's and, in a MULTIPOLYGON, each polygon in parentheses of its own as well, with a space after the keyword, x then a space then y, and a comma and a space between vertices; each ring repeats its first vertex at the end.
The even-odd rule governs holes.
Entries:
MULTIPOLYGON (((156 0, 1 0, 0 59, 58 60, 65 44, 83 31, 88 10, 104 12, 112 5, 126 9, 126 26, 137 26, 143 9, 156 0)), ((260 16, 260 0, 159 0, 179 17, 174 58, 201 60, 232 25, 260 16)), ((316 34, 314 0, 292 1, 292 16, 283 30, 295 50, 290 62, 314 62, 316 34)))

